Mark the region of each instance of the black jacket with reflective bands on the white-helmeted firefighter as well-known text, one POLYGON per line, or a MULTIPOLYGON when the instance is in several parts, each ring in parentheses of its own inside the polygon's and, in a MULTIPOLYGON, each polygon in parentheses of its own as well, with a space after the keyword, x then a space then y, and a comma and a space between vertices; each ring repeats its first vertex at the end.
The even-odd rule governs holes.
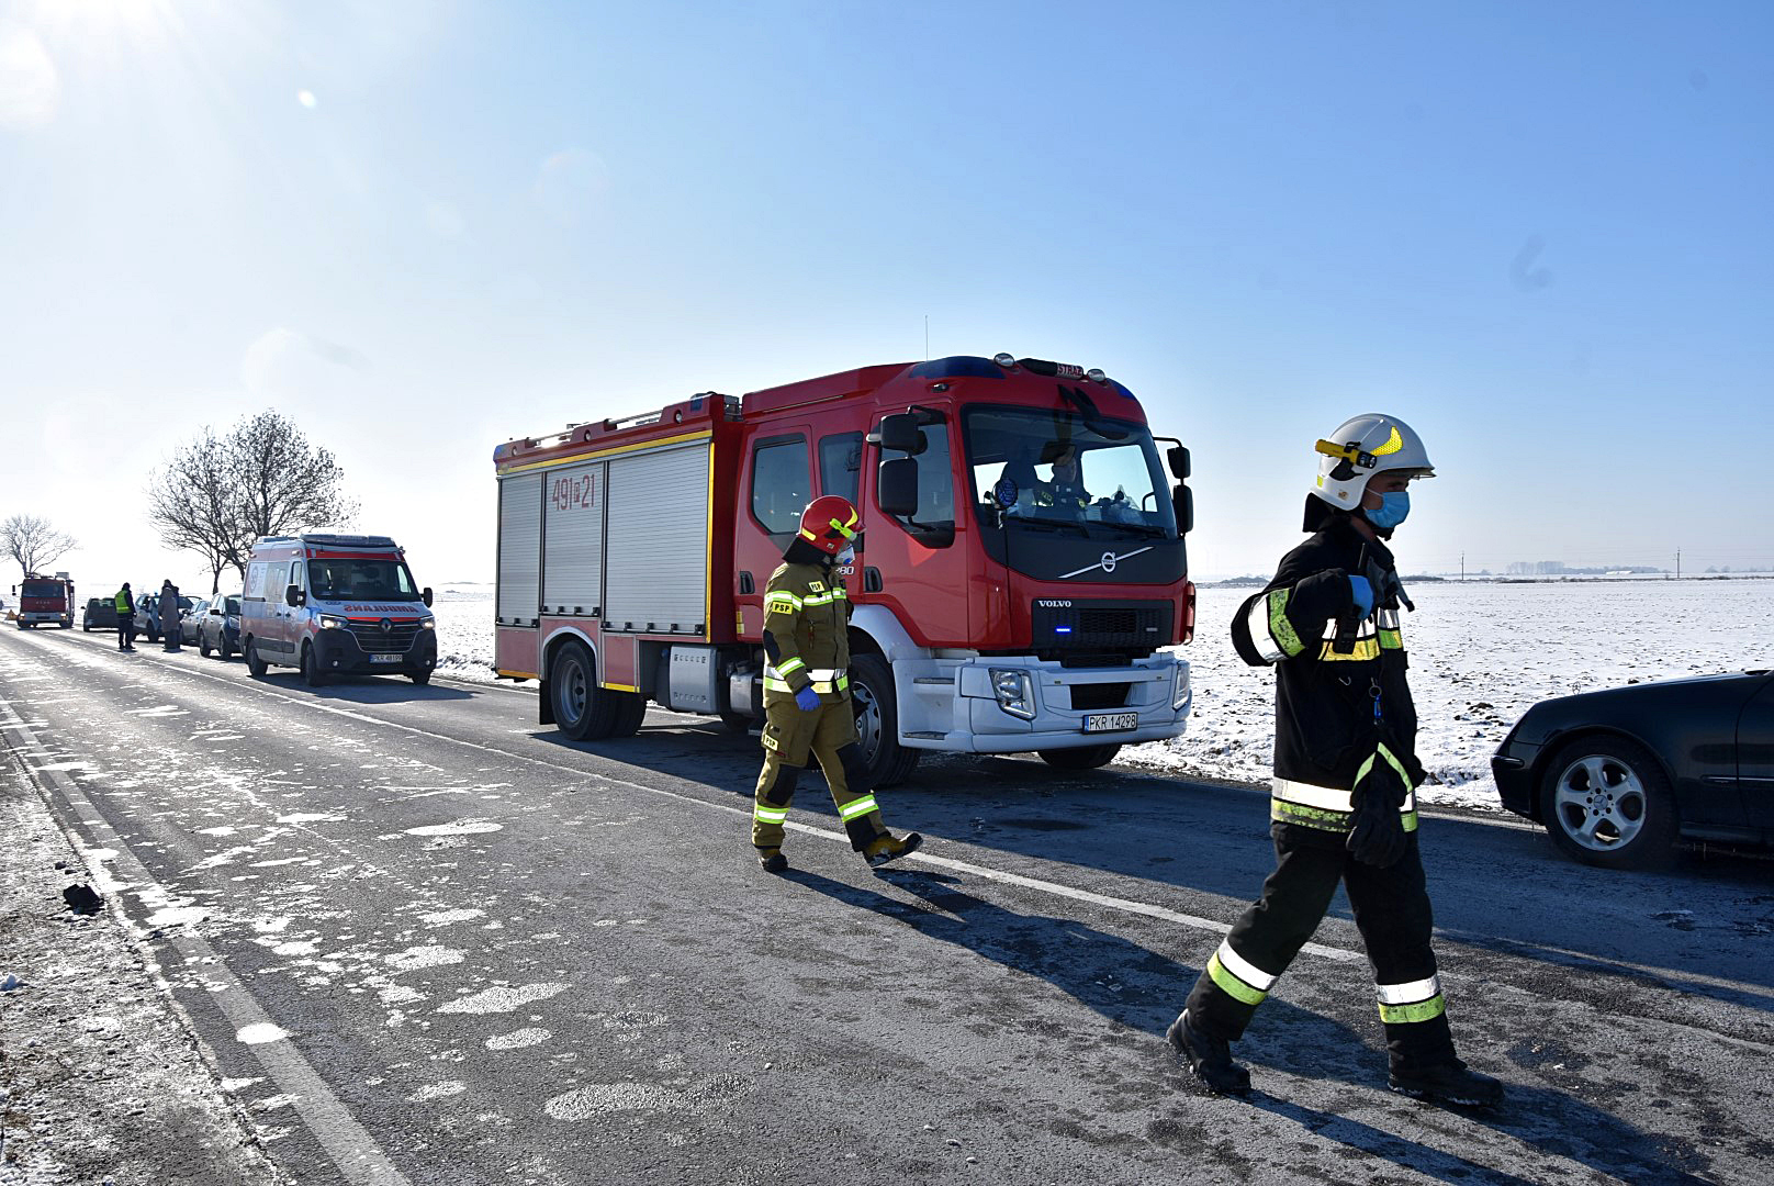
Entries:
POLYGON ((1318 833, 1350 826, 1350 790, 1371 763, 1387 762, 1410 788, 1400 808, 1416 829, 1423 767, 1416 758, 1417 710, 1398 604, 1384 582, 1398 579, 1393 554, 1368 540, 1348 515, 1281 559, 1274 581, 1240 605, 1231 636, 1252 666, 1276 668, 1276 778, 1270 817, 1318 833), (1348 577, 1375 584, 1375 609, 1355 620, 1348 577))

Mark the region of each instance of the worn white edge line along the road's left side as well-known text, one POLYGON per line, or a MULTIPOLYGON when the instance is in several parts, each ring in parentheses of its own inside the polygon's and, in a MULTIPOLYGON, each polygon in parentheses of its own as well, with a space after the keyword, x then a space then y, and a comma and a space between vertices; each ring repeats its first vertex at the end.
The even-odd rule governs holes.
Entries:
MULTIPOLYGON (((7 716, 12 716, 9 707, 4 710, 7 716)), ((16 719, 16 716, 11 724, 23 731, 32 746, 37 746, 37 739, 21 721, 16 719)), ((80 838, 71 838, 75 840, 75 849, 87 863, 87 870, 92 874, 94 881, 103 882, 115 874, 122 874, 122 877, 128 879, 130 888, 137 890, 138 895, 140 891, 149 890, 167 898, 172 897, 165 886, 154 881, 154 877, 147 872, 147 866, 137 859, 135 852, 130 850, 130 845, 124 843, 122 836, 119 836, 117 831, 105 822, 105 817, 99 815, 98 808, 92 806, 92 801, 87 799, 85 792, 80 790, 80 785, 75 783, 75 779, 71 779, 64 771, 34 771, 30 763, 23 760, 23 755, 18 755, 16 751, 12 753, 12 758, 23 771, 23 778, 27 781, 35 783, 37 779, 48 779, 53 783, 55 790, 67 801, 67 806, 71 806, 80 817, 82 827, 90 831, 90 838, 96 842, 96 847, 108 849, 117 854, 115 858, 110 858, 114 870, 105 868, 105 863, 99 858, 90 856, 94 845, 83 843, 80 838)), ((53 815, 55 813, 51 811, 51 818, 53 815)), ((172 985, 167 982, 160 962, 154 959, 154 952, 147 945, 142 927, 131 920, 128 913, 117 911, 117 914, 133 936, 149 971, 154 975, 156 984, 165 991, 169 1003, 183 1017, 184 1028, 199 1044, 204 1044, 200 1032, 192 1023, 192 1016, 172 992, 172 985)), ((248 1026, 270 1026, 270 1030, 261 1030, 261 1033, 282 1032, 252 996, 247 985, 243 985, 234 973, 229 971, 227 962, 224 962, 224 959, 215 952, 215 948, 209 946, 208 941, 204 941, 202 936, 177 932, 170 937, 170 943, 186 964, 202 968, 206 980, 222 985, 220 991, 209 994, 209 1000, 216 1003, 222 1016, 234 1026, 234 1033, 241 1033, 248 1026)), ((209 1055, 209 1063, 218 1065, 215 1049, 208 1048, 208 1044, 204 1046, 209 1055)), ((389 1156, 369 1136, 369 1131, 357 1122, 342 1103, 339 1103, 339 1097, 332 1094, 326 1081, 314 1071, 309 1060, 302 1056, 302 1051, 296 1049, 294 1042, 282 1037, 273 1042, 248 1044, 248 1049, 254 1058, 259 1060, 259 1065, 264 1067, 264 1072, 271 1076, 271 1081, 277 1083, 279 1090, 284 1095, 293 1097, 291 1106, 302 1117, 307 1129, 314 1133, 314 1138, 321 1143, 321 1149, 326 1150, 332 1163, 339 1166, 339 1174, 344 1175, 344 1181, 351 1182, 351 1186, 410 1186, 406 1175, 394 1168, 394 1163, 389 1161, 389 1156)))

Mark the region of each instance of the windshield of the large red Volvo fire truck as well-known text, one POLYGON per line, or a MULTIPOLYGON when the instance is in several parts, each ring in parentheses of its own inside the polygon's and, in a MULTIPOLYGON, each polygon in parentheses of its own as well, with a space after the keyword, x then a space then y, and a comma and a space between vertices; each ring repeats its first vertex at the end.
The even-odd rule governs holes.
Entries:
POLYGON ((1176 538, 1176 511, 1144 424, 1059 410, 965 412, 967 463, 983 526, 1073 527, 1176 538))

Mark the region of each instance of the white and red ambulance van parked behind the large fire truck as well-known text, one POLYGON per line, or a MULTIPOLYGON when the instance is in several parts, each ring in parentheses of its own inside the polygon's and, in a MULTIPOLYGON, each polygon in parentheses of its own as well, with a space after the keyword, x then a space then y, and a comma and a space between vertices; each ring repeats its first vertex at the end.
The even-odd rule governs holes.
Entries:
POLYGON ((239 634, 252 675, 300 668, 310 687, 346 673, 426 684, 438 662, 431 589, 389 536, 263 536, 247 561, 239 634))

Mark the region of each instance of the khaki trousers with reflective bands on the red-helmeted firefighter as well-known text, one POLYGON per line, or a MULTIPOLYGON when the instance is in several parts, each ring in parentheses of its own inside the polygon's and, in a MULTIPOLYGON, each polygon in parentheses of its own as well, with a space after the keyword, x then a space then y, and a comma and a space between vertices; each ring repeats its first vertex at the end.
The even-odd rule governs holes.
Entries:
POLYGON ((862 781, 862 746, 857 744, 855 708, 850 694, 823 698, 812 712, 804 710, 788 692, 765 692, 765 769, 752 792, 752 843, 759 849, 782 847, 782 820, 795 799, 795 783, 809 753, 832 788, 832 803, 850 834, 850 847, 862 852, 883 836, 880 808, 862 781))

